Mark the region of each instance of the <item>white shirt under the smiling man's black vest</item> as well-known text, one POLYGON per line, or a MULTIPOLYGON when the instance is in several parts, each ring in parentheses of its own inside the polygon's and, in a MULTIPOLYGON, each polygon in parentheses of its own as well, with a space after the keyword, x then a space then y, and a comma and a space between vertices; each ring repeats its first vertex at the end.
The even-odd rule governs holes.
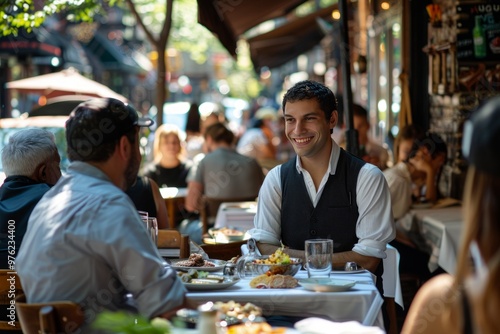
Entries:
MULTIPOLYGON (((297 171, 303 175, 309 197, 314 207, 318 204, 326 181, 334 175, 339 160, 340 147, 332 140, 330 165, 316 190, 309 172, 296 159, 297 171)), ((281 165, 266 175, 262 184, 255 215, 255 228, 249 231, 257 241, 280 246, 281 240, 281 165)), ((384 259, 387 243, 394 239, 394 219, 392 217, 391 196, 384 175, 377 167, 366 163, 359 171, 356 185, 356 203, 359 217, 356 223, 358 243, 353 251, 361 255, 384 259)), ((300 203, 297 203, 300 205, 300 203)))

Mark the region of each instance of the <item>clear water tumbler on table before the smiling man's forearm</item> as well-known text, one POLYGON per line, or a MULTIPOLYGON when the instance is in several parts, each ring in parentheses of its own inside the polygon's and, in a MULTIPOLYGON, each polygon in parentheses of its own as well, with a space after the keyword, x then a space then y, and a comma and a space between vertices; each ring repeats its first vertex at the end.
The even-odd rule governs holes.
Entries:
POLYGON ((305 242, 307 275, 310 278, 330 277, 333 240, 311 239, 305 242))

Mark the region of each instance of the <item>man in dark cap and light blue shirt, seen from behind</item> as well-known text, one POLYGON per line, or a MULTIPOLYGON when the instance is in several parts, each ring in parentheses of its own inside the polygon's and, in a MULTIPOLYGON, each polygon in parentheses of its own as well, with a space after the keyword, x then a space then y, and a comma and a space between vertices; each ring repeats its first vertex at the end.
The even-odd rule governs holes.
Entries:
POLYGON ((111 98, 73 110, 66 122, 71 164, 33 210, 16 261, 29 303, 71 300, 86 324, 105 309, 152 318, 183 307, 182 282, 124 192, 141 162, 139 127, 152 123, 111 98))

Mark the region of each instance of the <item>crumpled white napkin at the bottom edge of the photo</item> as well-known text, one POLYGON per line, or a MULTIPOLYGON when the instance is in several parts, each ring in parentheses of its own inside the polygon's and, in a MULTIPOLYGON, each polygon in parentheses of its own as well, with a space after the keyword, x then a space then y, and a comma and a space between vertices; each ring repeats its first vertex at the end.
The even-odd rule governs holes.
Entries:
POLYGON ((295 323, 295 329, 301 334, 384 334, 374 326, 363 326, 357 321, 333 322, 321 318, 306 318, 295 323))

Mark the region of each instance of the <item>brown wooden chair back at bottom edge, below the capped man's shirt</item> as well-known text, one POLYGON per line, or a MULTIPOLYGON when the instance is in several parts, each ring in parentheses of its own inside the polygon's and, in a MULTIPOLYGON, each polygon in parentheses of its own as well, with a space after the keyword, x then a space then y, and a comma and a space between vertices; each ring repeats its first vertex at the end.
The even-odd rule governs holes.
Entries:
POLYGON ((16 310, 24 334, 74 333, 85 319, 80 305, 71 301, 28 304, 19 295, 16 310))

